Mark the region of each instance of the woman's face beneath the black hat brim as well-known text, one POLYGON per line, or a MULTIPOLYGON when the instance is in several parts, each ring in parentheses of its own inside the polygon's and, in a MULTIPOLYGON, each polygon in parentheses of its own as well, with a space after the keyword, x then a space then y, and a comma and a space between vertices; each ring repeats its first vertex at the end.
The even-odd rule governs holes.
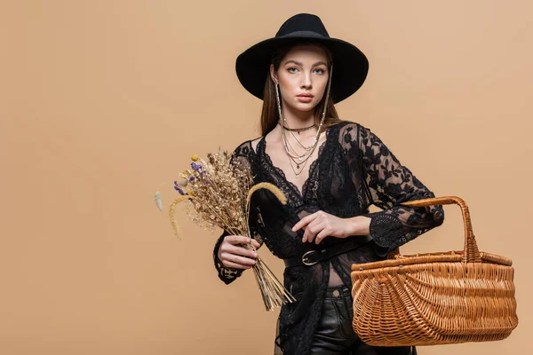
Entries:
POLYGON ((322 99, 329 78, 328 57, 322 48, 298 45, 283 57, 277 72, 270 66, 274 83, 279 83, 282 103, 298 111, 310 111, 322 99))

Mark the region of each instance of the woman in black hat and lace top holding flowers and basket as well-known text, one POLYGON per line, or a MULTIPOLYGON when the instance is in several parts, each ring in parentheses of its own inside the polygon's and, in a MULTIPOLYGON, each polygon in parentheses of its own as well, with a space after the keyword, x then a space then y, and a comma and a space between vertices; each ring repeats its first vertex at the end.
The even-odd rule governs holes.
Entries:
MULTIPOLYGON (((275 353, 412 353, 362 343, 351 324, 351 265, 386 258, 444 217, 440 206, 400 206, 434 193, 373 132, 338 118, 334 103, 361 87, 366 57, 330 38, 318 17, 302 13, 244 51, 236 71, 264 102, 262 137, 238 146, 235 159, 251 166, 255 183, 277 185, 288 198, 283 206, 260 192, 251 204, 253 243, 266 243, 284 260, 284 285, 297 299, 282 306, 275 353), (369 213, 371 204, 383 210, 369 213)), ((219 238, 214 258, 224 282, 255 263, 257 253, 239 247, 247 241, 227 233, 219 238)))

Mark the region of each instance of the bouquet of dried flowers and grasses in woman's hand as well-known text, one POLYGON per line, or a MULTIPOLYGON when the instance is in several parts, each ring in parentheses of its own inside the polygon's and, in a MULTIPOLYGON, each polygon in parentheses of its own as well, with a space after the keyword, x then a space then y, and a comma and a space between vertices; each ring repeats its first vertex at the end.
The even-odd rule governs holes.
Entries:
MULTIPOLYGON (((181 178, 174 182, 174 188, 181 196, 171 203, 169 214, 174 233, 178 237, 180 233, 174 218, 174 207, 181 201, 187 201, 189 207, 192 207, 187 214, 196 225, 211 232, 217 226, 230 234, 250 238, 248 222, 253 193, 267 189, 282 204, 286 204, 285 196, 276 186, 268 183, 253 185, 250 167, 231 158, 232 155, 226 151, 207 154, 207 162, 193 155, 191 169, 184 170, 181 178)), ((255 250, 251 243, 243 244, 243 247, 255 250)), ((252 269, 267 311, 272 311, 274 306, 295 301, 260 257, 252 269)))

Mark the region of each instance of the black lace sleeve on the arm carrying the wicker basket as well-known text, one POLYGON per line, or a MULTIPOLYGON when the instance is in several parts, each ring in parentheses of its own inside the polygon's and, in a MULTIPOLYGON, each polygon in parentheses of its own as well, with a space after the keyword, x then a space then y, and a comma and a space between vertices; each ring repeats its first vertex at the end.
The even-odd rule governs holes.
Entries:
POLYGON ((434 197, 434 193, 396 159, 378 136, 361 125, 357 129, 357 146, 355 142, 350 146, 357 148, 354 154, 360 157, 363 190, 370 204, 383 209, 365 216, 371 218, 370 235, 378 246, 378 254, 386 256, 394 248, 442 225, 444 211, 442 206, 400 206, 404 201, 434 197))

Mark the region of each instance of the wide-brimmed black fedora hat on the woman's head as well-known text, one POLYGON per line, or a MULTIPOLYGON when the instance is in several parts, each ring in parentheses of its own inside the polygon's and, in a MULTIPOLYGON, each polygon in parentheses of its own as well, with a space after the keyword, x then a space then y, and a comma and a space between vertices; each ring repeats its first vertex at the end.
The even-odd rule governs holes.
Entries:
POLYGON ((286 20, 274 37, 252 45, 235 62, 239 81, 253 96, 263 99, 265 81, 276 48, 302 40, 322 43, 332 53, 333 76, 330 95, 337 103, 357 91, 369 71, 366 56, 352 43, 331 38, 322 20, 310 13, 298 13, 286 20))

